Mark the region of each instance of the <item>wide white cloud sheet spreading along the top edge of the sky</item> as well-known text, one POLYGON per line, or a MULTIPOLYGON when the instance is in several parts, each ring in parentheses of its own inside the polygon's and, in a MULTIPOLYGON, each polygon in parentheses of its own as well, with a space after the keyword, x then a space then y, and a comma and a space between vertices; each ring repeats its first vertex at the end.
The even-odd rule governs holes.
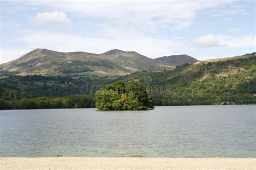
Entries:
MULTIPOLYGON (((20 2, 20 1, 12 1, 20 2)), ((199 10, 231 4, 233 0, 173 1, 23 1, 22 6, 62 10, 79 17, 102 18, 123 28, 181 30, 193 24, 199 10)), ((50 18, 49 18, 50 19, 50 18)))

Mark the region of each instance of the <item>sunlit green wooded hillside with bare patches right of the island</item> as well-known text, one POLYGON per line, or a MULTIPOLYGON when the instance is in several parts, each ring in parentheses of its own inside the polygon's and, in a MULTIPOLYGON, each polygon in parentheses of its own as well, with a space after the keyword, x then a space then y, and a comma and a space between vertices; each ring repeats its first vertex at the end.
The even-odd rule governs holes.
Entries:
POLYGON ((148 84, 155 106, 255 104, 256 57, 178 66, 177 69, 143 71, 123 77, 123 80, 144 80, 148 84), (159 87, 159 88, 154 88, 159 87), (169 87, 165 90, 165 87, 169 87))

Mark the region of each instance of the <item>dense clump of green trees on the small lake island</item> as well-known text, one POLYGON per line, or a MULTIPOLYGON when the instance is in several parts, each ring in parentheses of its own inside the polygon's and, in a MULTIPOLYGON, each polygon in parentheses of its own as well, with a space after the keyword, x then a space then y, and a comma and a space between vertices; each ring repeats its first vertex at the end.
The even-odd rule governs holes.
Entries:
POLYGON ((96 93, 96 108, 99 110, 146 110, 153 107, 152 97, 147 94, 142 81, 132 81, 127 86, 123 81, 103 86, 96 93))

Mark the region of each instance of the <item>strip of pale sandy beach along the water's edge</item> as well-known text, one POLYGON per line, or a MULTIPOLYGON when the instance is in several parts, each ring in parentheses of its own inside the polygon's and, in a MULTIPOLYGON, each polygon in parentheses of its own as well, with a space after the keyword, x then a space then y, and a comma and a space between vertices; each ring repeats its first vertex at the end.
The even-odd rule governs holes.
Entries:
POLYGON ((256 158, 0 158, 0 169, 256 169, 256 158))

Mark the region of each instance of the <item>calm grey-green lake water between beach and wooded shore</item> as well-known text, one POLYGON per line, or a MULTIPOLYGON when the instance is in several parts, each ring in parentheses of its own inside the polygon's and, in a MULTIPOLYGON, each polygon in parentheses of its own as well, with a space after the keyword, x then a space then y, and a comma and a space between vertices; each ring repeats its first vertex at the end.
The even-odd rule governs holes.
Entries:
POLYGON ((256 157, 256 105, 0 111, 0 157, 256 157))

